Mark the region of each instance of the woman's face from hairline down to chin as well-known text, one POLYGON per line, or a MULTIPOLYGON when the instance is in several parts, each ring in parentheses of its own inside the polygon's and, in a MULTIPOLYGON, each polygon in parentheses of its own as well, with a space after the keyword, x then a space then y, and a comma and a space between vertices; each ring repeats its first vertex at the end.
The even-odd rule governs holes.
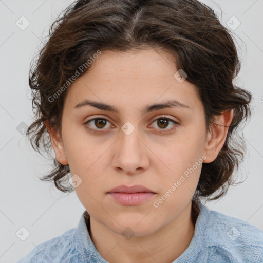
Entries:
POLYGON ((191 203, 211 138, 203 105, 195 86, 174 76, 175 59, 165 51, 104 51, 92 63, 67 90, 61 142, 52 142, 56 157, 69 164, 93 220, 119 234, 127 227, 136 236, 151 234, 191 203), (77 106, 85 100, 115 111, 77 106), (149 108, 168 101, 185 106, 149 108), (109 194, 119 185, 153 193, 109 194))

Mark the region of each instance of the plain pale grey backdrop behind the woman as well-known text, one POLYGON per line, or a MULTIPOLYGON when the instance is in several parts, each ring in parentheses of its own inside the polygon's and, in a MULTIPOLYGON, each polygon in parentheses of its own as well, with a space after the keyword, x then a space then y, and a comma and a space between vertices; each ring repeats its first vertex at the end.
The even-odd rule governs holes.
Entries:
MULTIPOLYGON (((0 0, 0 262, 15 262, 40 243, 77 227, 85 210, 75 192, 63 194, 37 178, 49 170, 51 162, 33 151, 23 133, 33 117, 30 61, 51 23, 70 3, 0 0), (22 227, 30 233, 24 241, 17 235, 22 227)), ((222 12, 215 2, 204 3, 214 8, 224 26, 232 27, 242 63, 235 82, 252 93, 254 108, 243 129, 248 152, 238 171, 238 178, 246 180, 231 187, 224 198, 206 205, 263 230, 263 1, 221 0, 217 3, 222 12)))

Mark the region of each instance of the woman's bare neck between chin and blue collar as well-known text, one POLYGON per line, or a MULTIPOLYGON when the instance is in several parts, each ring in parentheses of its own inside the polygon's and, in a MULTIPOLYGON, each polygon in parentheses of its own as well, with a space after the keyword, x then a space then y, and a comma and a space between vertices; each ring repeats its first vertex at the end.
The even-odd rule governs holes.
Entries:
POLYGON ((90 237, 97 251, 111 263, 162 262, 170 263, 189 246, 198 216, 198 206, 189 205, 170 224, 147 236, 124 236, 90 217, 90 237))

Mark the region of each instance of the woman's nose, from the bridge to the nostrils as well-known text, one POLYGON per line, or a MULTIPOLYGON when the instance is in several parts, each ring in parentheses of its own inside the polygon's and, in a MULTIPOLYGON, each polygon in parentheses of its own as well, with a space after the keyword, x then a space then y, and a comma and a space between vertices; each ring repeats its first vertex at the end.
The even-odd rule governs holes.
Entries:
POLYGON ((143 142, 139 128, 132 133, 120 131, 120 137, 115 143, 112 166, 117 172, 127 175, 143 173, 149 167, 149 149, 143 142))

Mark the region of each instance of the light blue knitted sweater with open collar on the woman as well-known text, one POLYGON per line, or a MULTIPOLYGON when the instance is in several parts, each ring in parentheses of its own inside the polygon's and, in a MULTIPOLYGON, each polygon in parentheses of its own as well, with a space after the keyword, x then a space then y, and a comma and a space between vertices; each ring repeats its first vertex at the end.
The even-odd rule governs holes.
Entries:
MULTIPOLYGON (((199 207, 192 241, 173 263, 263 263, 260 229, 203 204, 199 207)), ((90 239, 85 213, 77 228, 41 243, 17 263, 107 263, 90 239)))

